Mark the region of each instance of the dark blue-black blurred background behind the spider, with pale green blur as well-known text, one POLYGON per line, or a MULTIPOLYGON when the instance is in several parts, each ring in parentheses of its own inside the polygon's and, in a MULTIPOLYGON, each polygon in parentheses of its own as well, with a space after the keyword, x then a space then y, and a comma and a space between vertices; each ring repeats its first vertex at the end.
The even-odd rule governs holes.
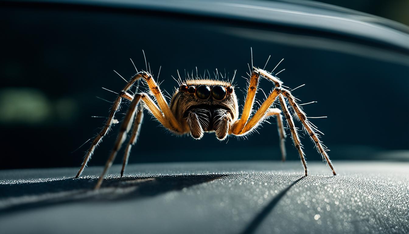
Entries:
MULTIPOLYGON (((401 13, 406 1, 328 2, 408 22, 401 13)), ((184 75, 184 69, 191 72, 196 66, 201 74, 218 68, 229 77, 237 69, 236 85, 244 90, 241 76, 248 72, 250 47, 255 66, 263 67, 272 55, 267 65, 272 70, 285 58, 276 70, 286 68, 279 75, 284 85, 306 84, 293 94, 303 102, 318 101, 304 106, 307 115, 328 116, 312 122, 326 134, 322 140, 331 159, 409 159, 409 53, 400 48, 283 25, 75 5, 3 2, 0 20, 2 169, 80 166, 89 143, 71 152, 99 132, 104 119, 91 116, 107 116, 111 105, 95 96, 115 100, 101 87, 118 92, 124 86, 112 70, 129 79, 135 73, 129 58, 144 69, 142 49, 154 75, 162 66, 161 88, 170 94, 177 69, 184 75), (355 49, 315 48, 308 40, 306 46, 292 45, 286 38, 325 39, 355 49), (368 54, 353 52, 360 49, 368 54), (379 57, 379 51, 390 53, 389 59, 379 57)), ((272 89, 265 80, 260 85, 266 93, 272 89)), ((244 93, 237 93, 243 105, 244 93)), ((257 98, 263 100, 262 92, 257 98)), ((122 107, 124 112, 127 104, 122 107)), ((270 122, 246 138, 219 142, 206 134, 196 141, 172 136, 145 114, 129 162, 278 160, 276 123, 270 122)), ((105 162, 117 130, 104 138, 90 166, 105 162)), ((308 136, 301 141, 308 160, 321 160, 308 136)), ((288 159, 298 160, 290 138, 286 145, 288 159)))

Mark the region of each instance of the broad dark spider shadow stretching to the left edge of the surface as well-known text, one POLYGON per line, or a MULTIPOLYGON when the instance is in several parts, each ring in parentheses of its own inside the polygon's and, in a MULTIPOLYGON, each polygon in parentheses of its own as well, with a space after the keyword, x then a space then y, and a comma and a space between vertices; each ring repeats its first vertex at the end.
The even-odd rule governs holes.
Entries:
POLYGON ((210 175, 160 175, 154 177, 112 177, 104 180, 101 189, 93 190, 97 178, 68 178, 45 182, 1 184, 0 216, 11 212, 55 206, 73 202, 115 202, 153 197, 193 185, 225 177, 210 175), (3 200, 3 201, 2 201, 3 200))

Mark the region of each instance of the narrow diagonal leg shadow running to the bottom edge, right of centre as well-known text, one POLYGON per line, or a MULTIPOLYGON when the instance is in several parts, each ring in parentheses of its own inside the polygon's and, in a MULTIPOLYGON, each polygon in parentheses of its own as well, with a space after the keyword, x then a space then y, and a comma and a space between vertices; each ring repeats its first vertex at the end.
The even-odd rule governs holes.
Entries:
POLYGON ((267 218, 268 214, 274 209, 274 207, 278 204, 278 202, 281 200, 281 198, 284 197, 285 193, 288 192, 288 190, 291 189, 292 186, 297 184, 301 179, 305 178, 306 176, 303 176, 296 181, 292 182, 287 188, 283 189, 279 194, 277 194, 261 211, 256 215, 256 217, 253 218, 253 220, 245 227, 243 232, 240 232, 240 234, 251 234, 254 233, 257 229, 258 226, 263 222, 265 218, 267 218))

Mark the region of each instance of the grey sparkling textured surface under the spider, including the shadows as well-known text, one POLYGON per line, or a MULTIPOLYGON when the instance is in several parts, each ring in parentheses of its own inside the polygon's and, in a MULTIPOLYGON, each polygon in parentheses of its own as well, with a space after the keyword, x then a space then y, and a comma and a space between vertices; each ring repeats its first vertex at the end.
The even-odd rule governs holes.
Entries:
POLYGON ((407 233, 408 163, 129 165, 0 173, 3 233, 407 233), (24 225, 22 225, 24 224, 24 225))

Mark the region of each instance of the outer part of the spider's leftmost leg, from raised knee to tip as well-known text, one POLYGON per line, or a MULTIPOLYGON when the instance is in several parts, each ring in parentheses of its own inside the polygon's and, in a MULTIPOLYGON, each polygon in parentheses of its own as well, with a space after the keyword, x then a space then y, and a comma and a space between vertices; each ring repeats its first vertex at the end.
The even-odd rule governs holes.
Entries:
POLYGON ((75 178, 78 178, 81 176, 85 166, 87 166, 88 161, 91 158, 91 155, 94 153, 95 148, 97 148, 97 145, 101 143, 102 138, 108 133, 108 131, 111 129, 112 122, 114 121, 114 116, 115 113, 119 110, 119 105, 121 104, 122 98, 126 98, 128 100, 132 100, 133 96, 127 93, 127 91, 133 86, 133 84, 139 80, 140 77, 144 76, 145 73, 139 72, 137 73, 134 77, 131 78, 131 80, 124 86, 122 91, 119 93, 117 99, 114 101, 114 104, 111 107, 111 111, 109 113, 108 119, 105 122, 105 125, 101 129, 101 132, 97 136, 95 136, 94 140, 91 143, 90 148, 87 151, 87 154, 85 154, 84 161, 81 165, 81 168, 79 169, 77 175, 75 178))

